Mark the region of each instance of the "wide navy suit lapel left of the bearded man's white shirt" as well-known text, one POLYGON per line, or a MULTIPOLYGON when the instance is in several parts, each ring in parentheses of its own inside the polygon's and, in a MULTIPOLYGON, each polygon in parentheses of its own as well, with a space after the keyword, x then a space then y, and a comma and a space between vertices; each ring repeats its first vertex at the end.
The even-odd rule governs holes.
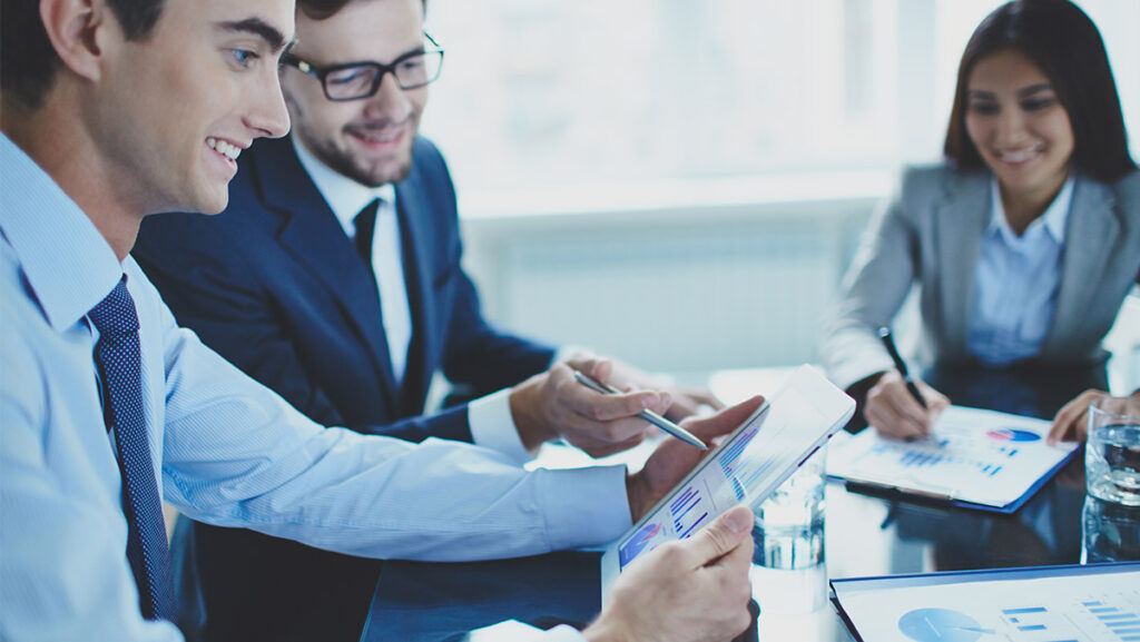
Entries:
POLYGON ((254 153, 259 169, 256 180, 262 198, 284 219, 277 231, 278 242, 340 303, 349 324, 368 348, 389 407, 394 407, 392 359, 372 274, 301 166, 290 139, 266 140, 250 152, 254 153))

